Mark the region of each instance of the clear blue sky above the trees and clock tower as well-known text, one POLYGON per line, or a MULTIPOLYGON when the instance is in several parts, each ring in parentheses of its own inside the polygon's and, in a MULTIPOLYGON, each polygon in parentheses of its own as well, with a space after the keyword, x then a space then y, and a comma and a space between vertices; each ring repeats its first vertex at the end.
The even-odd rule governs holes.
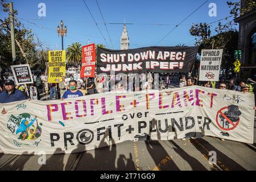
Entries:
MULTIPOLYGON (((110 49, 120 48, 120 36, 122 34, 123 23, 126 18, 127 31, 130 38, 130 48, 156 46, 167 33, 179 24, 184 18, 202 5, 206 0, 97 0, 104 16, 106 26, 108 27, 112 44, 110 43, 108 33, 101 18, 96 0, 85 0, 94 19, 98 23, 102 34, 92 16, 90 16, 82 0, 13 0, 14 9, 18 10, 18 19, 24 23, 24 26, 31 28, 39 39, 47 44, 50 49, 61 49, 61 38, 57 36, 57 26, 60 20, 68 28, 67 37, 64 37, 64 49, 73 42, 80 42, 82 45, 89 43, 108 44, 110 49), (46 17, 39 19, 38 4, 46 4, 46 17), (34 23, 34 24, 33 24, 34 23), (157 25, 162 23, 164 25, 157 25)), ((10 1, 6 1, 10 2, 10 1)), ((229 16, 229 7, 225 0, 209 0, 196 13, 192 14, 179 27, 171 32, 157 46, 176 46, 177 44, 186 44, 193 46, 194 38, 189 34, 191 23, 214 22, 218 19, 229 16), (217 16, 210 17, 209 3, 216 3, 217 16)), ((0 10, 0 16, 7 16, 0 10)), ((231 20, 231 19, 230 19, 231 20)), ((223 21, 227 22, 227 21, 223 21)), ((217 23, 212 24, 212 33, 217 23)))

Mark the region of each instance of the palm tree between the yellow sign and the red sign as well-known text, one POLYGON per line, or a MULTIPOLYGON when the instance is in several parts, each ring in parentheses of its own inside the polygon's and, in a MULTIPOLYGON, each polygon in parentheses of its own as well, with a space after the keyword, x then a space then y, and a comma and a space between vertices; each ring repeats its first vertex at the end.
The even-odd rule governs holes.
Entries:
POLYGON ((68 46, 66 57, 68 64, 73 64, 76 67, 82 64, 82 45, 78 42, 68 46))

